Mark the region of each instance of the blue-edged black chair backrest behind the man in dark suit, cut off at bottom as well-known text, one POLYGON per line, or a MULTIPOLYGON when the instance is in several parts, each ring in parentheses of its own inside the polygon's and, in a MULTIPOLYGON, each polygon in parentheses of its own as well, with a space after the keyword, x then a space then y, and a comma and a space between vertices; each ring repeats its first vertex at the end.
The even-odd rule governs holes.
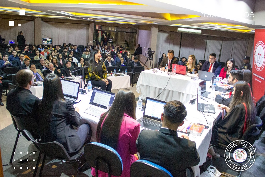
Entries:
POLYGON ((131 165, 131 177, 173 177, 169 171, 147 160, 137 160, 131 165))

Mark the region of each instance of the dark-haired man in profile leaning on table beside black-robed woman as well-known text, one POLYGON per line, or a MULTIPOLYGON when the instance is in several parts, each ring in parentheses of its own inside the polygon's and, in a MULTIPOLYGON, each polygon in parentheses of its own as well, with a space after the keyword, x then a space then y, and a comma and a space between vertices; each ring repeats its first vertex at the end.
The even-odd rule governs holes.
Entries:
MULTIPOLYGON (((238 81, 243 80, 243 72, 241 70, 232 70, 228 76, 228 84, 234 85, 238 81)), ((231 93, 231 92, 230 92, 231 93)), ((220 92, 215 92, 215 101, 217 103, 223 104, 225 106, 228 106, 233 98, 233 94, 231 93, 231 96, 229 98, 224 98, 221 96, 220 92)))

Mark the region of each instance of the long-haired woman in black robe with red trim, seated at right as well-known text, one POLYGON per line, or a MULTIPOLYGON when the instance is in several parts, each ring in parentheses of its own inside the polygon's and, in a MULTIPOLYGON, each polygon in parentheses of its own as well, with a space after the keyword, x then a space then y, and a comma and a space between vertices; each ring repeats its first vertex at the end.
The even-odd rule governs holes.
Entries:
MULTIPOLYGON (((238 81, 234 85, 234 97, 228 106, 219 104, 226 110, 226 116, 215 126, 211 144, 227 147, 232 141, 242 138, 246 129, 255 122, 256 109, 252 101, 249 85, 238 81)), ((213 150, 213 149, 212 149, 213 150)), ((209 153, 215 156, 211 150, 209 153)))

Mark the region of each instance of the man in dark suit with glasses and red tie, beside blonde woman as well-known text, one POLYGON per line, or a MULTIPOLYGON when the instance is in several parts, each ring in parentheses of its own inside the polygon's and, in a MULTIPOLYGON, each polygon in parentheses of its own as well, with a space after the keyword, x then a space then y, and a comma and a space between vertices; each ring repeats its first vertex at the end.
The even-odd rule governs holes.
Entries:
POLYGON ((211 53, 209 61, 204 62, 201 71, 213 72, 216 76, 220 74, 222 64, 216 61, 216 54, 211 53))

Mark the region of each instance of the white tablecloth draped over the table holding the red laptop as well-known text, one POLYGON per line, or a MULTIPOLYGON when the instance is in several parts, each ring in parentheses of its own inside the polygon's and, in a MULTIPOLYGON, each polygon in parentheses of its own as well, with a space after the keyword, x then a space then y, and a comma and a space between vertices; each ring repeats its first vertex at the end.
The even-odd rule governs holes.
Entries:
POLYGON ((165 73, 145 70, 139 76, 136 91, 140 93, 142 99, 157 97, 158 100, 178 100, 185 104, 196 96, 200 81, 192 80, 189 76, 179 74, 169 76, 165 73))

